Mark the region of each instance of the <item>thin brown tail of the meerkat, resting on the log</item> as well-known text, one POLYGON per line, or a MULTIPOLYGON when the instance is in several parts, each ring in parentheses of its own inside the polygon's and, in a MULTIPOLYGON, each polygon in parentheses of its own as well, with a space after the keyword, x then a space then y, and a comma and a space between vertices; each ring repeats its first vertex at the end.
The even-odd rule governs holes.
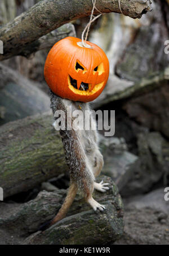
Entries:
POLYGON ((54 217, 54 219, 52 219, 50 225, 54 225, 56 222, 59 222, 59 220, 65 218, 70 206, 74 201, 76 194, 77 194, 77 185, 75 183, 72 183, 69 187, 68 194, 65 198, 63 205, 61 206, 59 212, 54 217))

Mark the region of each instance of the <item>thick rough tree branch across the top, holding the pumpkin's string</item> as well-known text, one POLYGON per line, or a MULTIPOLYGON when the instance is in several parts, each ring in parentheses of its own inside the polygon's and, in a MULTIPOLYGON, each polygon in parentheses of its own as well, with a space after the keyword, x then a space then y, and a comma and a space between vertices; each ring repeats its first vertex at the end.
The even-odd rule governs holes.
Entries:
MULTIPOLYGON (((96 7, 103 13, 121 13, 118 0, 97 0, 96 7)), ((121 0, 121 9, 124 15, 134 19, 141 18, 147 11, 152 10, 151 1, 121 0)), ((40 1, 0 29, 0 40, 4 45, 4 54, 0 55, 0 60, 17 55, 24 46, 33 44, 39 37, 61 25, 90 15, 91 10, 91 0, 40 1)), ((95 10, 95 14, 99 14, 97 10, 95 10)))

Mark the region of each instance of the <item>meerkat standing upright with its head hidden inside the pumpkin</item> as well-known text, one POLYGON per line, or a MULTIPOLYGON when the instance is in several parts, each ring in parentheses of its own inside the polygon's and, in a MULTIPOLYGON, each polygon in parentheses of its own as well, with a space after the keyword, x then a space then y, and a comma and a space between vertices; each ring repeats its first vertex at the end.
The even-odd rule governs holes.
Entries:
MULTIPOLYGON (((56 96, 52 91, 50 91, 50 96, 54 116, 56 110, 64 111, 66 116, 67 106, 72 106, 72 111, 79 109, 83 113, 86 110, 90 111, 89 103, 70 101, 56 96)), ((54 127, 56 127, 57 118, 54 117, 54 119, 54 127)), ((67 122, 67 120, 65 121, 67 122)), ((95 122, 92 116, 91 122, 95 122)), ((94 125, 96 124, 94 123, 94 125)), ((60 129, 60 134, 64 145, 66 164, 70 172, 70 186, 65 201, 55 218, 52 219, 51 225, 65 218, 78 190, 92 209, 104 211, 105 206, 95 201, 92 192, 94 189, 100 192, 106 192, 109 189, 108 183, 103 183, 103 181, 96 183, 95 181, 104 164, 103 155, 100 153, 98 146, 99 134, 97 134, 97 131, 95 129, 78 130, 72 127, 71 130, 60 129)))

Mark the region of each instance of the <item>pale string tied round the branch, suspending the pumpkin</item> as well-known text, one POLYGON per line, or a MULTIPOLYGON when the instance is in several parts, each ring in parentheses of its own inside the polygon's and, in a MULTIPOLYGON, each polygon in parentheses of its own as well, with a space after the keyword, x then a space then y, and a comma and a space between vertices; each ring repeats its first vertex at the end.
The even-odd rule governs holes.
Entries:
MULTIPOLYGON (((104 2, 110 2, 109 0, 108 1, 104 1, 104 2)), ((97 8, 96 8, 96 0, 92 0, 92 4, 93 4, 93 8, 92 8, 92 12, 91 12, 91 16, 90 16, 90 21, 89 23, 86 25, 86 27, 84 28, 83 30, 83 33, 82 33, 82 46, 83 47, 88 47, 87 44, 86 44, 86 41, 87 41, 87 37, 88 37, 88 32, 90 31, 90 26, 91 24, 96 20, 98 19, 101 15, 103 15, 103 13, 101 11, 99 11, 97 8), (100 12, 99 15, 97 15, 96 17, 94 16, 94 10, 96 9, 96 11, 100 12), (87 31, 87 32, 86 32, 87 31), (86 33, 86 36, 85 36, 85 39, 84 39, 84 34, 86 33)), ((122 12, 122 9, 121 9, 121 1, 118 0, 118 5, 119 5, 119 10, 121 11, 121 13, 123 14, 122 12)), ((123 14, 124 15, 124 14, 123 14)))

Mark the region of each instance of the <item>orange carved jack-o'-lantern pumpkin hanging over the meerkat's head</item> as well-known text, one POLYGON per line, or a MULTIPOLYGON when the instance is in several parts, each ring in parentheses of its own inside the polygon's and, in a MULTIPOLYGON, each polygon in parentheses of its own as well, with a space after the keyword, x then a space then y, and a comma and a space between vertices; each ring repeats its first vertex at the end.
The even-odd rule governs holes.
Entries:
POLYGON ((89 102, 103 91, 109 77, 109 60, 97 45, 66 37, 47 56, 45 80, 52 92, 72 101, 89 102))

